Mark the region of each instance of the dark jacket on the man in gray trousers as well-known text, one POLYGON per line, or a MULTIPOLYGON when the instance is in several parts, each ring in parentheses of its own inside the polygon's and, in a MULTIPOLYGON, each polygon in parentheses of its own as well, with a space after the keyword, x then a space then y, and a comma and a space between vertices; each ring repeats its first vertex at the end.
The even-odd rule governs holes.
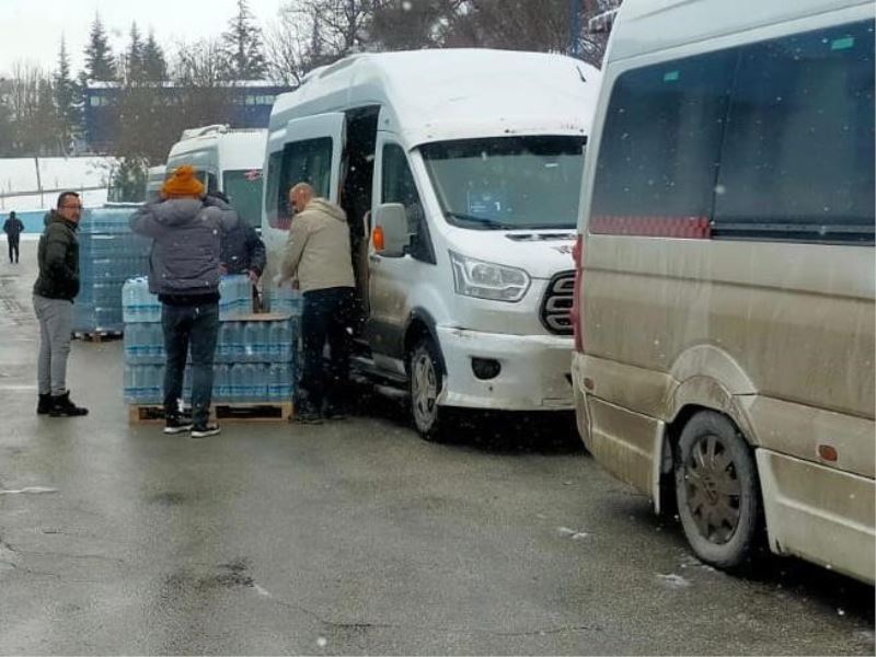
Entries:
POLYGON ((39 275, 34 284, 34 295, 46 299, 72 301, 79 293, 79 238, 78 224, 68 221, 54 210, 39 237, 36 261, 39 275))

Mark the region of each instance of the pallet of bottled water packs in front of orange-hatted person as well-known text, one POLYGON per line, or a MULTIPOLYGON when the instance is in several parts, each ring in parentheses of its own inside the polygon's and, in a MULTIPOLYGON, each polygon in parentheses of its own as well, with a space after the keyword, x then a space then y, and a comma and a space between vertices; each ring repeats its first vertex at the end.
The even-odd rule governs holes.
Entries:
MULTIPOLYGON (((265 404, 291 401, 300 310, 252 313, 252 288, 245 276, 224 276, 219 288, 220 324, 214 365, 216 403, 265 404)), ((125 401, 160 404, 164 380, 161 306, 146 278, 134 278, 123 291, 125 318, 125 401)), ((192 394, 191 362, 183 396, 192 394)))

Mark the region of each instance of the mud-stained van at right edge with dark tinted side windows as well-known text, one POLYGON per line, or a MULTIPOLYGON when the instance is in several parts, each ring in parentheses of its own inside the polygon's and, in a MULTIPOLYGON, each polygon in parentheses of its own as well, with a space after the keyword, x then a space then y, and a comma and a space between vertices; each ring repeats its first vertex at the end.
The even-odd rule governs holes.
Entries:
POLYGON ((578 427, 696 555, 874 580, 874 14, 625 0, 576 245, 578 427))

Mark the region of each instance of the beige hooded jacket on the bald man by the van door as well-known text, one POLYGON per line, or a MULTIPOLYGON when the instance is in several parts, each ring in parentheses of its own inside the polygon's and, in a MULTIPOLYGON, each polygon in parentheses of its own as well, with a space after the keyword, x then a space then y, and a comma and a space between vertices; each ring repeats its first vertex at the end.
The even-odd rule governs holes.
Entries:
POLYGON ((344 210, 325 198, 314 198, 295 216, 280 276, 298 279, 302 292, 355 287, 344 210))

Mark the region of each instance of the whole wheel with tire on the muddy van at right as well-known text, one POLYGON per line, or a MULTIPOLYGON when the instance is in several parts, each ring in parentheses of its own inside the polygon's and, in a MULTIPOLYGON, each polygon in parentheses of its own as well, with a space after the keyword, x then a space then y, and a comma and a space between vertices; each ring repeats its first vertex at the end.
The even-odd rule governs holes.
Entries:
POLYGON ((725 570, 747 565, 762 506, 752 452, 736 426, 712 411, 691 417, 678 442, 675 475, 678 515, 696 556, 725 570))

